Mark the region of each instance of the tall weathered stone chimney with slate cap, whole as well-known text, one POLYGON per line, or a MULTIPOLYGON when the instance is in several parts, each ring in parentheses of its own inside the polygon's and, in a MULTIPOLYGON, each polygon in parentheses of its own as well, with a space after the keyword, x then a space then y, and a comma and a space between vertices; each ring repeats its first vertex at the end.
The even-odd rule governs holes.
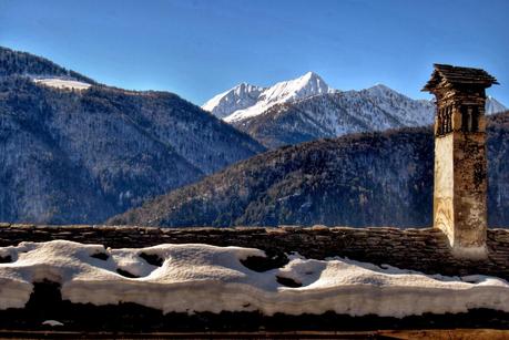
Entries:
POLYGON ((479 69, 435 64, 423 91, 437 102, 435 115, 434 227, 457 257, 487 257, 485 89, 497 80, 479 69))

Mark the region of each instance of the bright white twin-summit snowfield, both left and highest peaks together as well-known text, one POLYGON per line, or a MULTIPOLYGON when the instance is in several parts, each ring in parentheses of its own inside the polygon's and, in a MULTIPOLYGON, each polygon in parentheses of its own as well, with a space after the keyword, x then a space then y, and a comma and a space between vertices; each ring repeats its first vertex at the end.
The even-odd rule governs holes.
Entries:
POLYGON ((334 90, 318 74, 307 72, 297 79, 279 82, 271 87, 240 84, 214 96, 202 109, 226 122, 238 122, 259 115, 276 104, 329 92, 334 90))

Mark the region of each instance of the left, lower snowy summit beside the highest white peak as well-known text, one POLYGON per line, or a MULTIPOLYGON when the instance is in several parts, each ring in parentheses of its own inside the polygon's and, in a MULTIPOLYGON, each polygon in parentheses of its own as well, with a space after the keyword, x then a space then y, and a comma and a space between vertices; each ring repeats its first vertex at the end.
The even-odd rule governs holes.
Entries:
POLYGON ((237 110, 247 109, 256 104, 259 94, 265 87, 242 83, 226 92, 220 93, 202 109, 211 112, 218 119, 223 119, 237 110))

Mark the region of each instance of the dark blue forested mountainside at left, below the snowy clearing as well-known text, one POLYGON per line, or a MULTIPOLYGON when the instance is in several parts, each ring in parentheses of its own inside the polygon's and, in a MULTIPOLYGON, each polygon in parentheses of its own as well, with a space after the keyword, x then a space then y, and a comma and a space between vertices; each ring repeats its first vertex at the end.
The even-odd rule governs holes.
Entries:
POLYGON ((0 76, 0 220, 96 223, 264 151, 171 93, 35 84, 61 76, 38 60, 0 76))

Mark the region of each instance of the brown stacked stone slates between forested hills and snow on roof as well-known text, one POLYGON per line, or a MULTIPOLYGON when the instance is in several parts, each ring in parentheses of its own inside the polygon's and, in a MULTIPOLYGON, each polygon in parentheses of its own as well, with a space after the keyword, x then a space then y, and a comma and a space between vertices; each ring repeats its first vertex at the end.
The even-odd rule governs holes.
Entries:
POLYGON ((489 229, 488 258, 465 260, 451 256, 446 236, 436 228, 155 228, 126 226, 35 226, 0 224, 0 246, 21 241, 67 239, 111 248, 159 244, 208 244, 259 248, 268 256, 296 251, 307 258, 340 256, 426 274, 483 274, 509 280, 509 230, 489 229))

